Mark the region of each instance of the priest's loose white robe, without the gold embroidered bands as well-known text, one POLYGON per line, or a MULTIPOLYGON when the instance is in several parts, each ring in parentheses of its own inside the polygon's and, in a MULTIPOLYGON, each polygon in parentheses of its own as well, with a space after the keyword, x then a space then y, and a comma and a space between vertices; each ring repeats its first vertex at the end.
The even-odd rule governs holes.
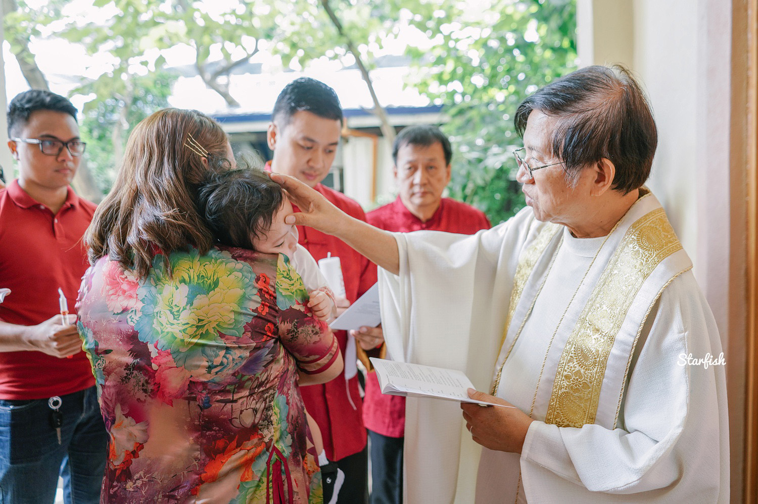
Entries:
MULTIPOLYGON (((644 215, 659 207, 648 194, 632 208, 644 215)), ((689 271, 662 292, 641 288, 630 313, 647 297, 650 315, 628 375, 617 366, 628 356, 609 357, 595 423, 573 428, 542 422, 566 338, 591 296, 587 285, 597 284, 612 256, 601 247, 605 241, 559 232, 545 254, 550 260, 535 267, 547 268, 544 285, 527 284, 522 295, 536 301, 521 336, 502 345, 519 257, 545 226, 527 208, 471 237, 396 234, 400 273, 380 270, 390 356, 460 369, 489 392, 496 356, 507 347, 497 395, 527 413, 533 409, 538 420, 522 456, 477 450, 458 405, 409 398, 405 502, 515 502, 517 494, 518 502, 532 503, 728 502, 724 370, 681 365, 682 353, 698 358, 721 352, 713 316, 689 271), (624 384, 624 378, 622 397, 603 395, 613 389, 607 383, 624 384)), ((615 239, 609 236, 608 244, 615 239)), ((680 263, 688 261, 678 254, 680 263)))

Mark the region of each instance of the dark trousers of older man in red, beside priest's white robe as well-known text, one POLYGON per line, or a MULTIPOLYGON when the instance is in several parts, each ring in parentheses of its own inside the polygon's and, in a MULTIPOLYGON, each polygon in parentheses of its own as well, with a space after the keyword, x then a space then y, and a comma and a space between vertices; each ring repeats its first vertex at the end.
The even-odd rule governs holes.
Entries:
POLYGON ((368 431, 371 439, 371 504, 402 504, 402 437, 368 431))

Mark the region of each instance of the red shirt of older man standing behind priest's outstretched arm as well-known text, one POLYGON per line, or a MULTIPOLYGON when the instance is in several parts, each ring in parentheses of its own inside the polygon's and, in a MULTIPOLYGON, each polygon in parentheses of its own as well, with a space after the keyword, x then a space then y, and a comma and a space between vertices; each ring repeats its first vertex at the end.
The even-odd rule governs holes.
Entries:
MULTIPOLYGON (((426 229, 473 235, 490 229, 490 221, 480 210, 460 201, 443 198, 440 207, 424 222, 413 215, 398 197, 390 204, 366 215, 372 226, 392 232, 426 229)), ((382 394, 376 373, 368 373, 363 399, 363 422, 366 428, 387 437, 403 437, 406 425, 406 398, 382 394)))

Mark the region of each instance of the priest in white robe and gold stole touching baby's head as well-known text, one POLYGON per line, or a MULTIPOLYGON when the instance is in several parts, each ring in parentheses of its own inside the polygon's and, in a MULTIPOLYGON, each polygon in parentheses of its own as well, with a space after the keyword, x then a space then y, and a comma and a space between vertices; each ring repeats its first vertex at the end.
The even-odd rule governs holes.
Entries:
POLYGON ((728 502, 724 369, 681 359, 721 342, 643 186, 644 93, 621 67, 587 67, 515 124, 528 207, 472 236, 384 232, 275 176, 307 209, 287 219, 383 268, 393 359, 461 369, 492 394, 472 397, 516 406, 409 399, 405 502, 728 502))

